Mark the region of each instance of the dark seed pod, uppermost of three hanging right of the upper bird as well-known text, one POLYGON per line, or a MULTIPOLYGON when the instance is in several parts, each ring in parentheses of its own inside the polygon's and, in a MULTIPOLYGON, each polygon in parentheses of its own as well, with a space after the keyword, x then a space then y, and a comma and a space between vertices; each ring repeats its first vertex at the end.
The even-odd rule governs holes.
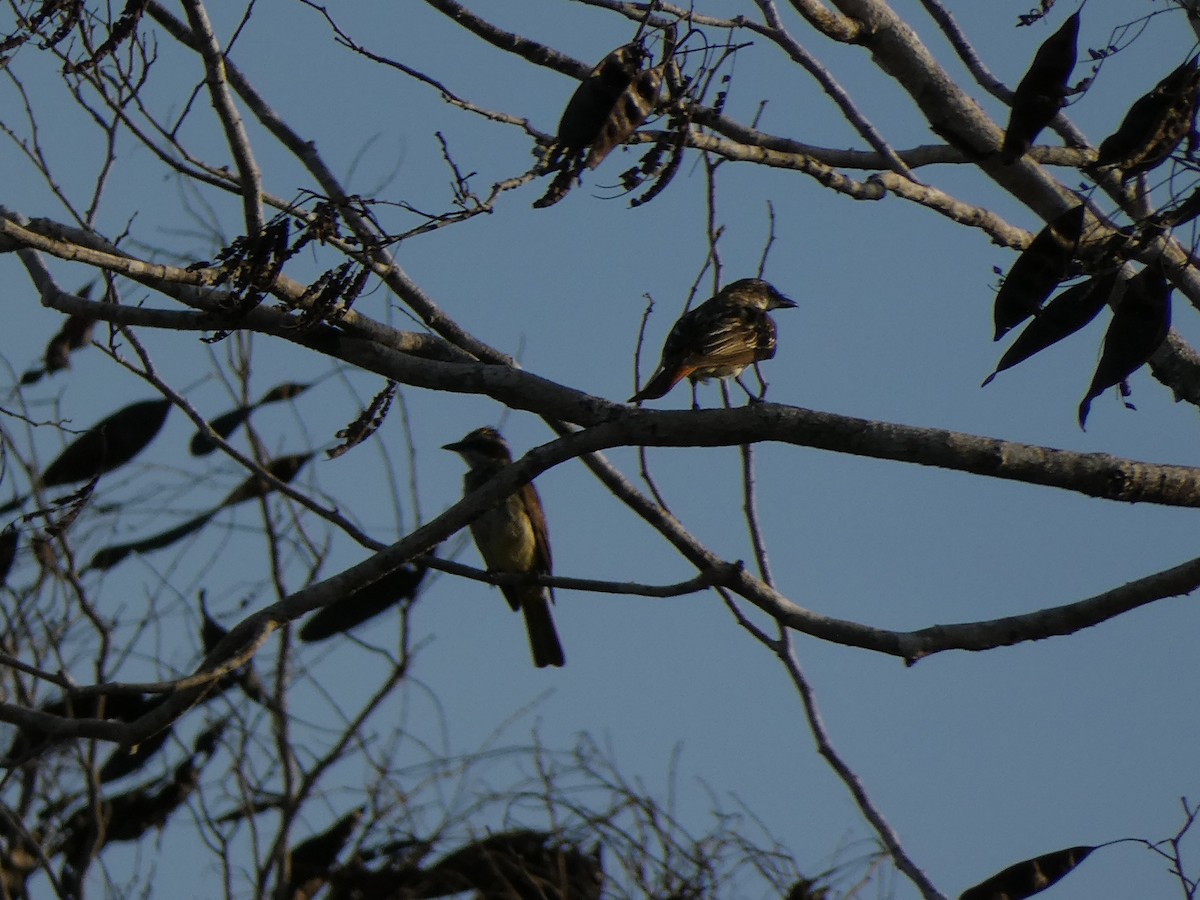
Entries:
POLYGON ((1013 263, 992 307, 994 341, 1033 316, 1050 292, 1070 276, 1072 258, 1084 232, 1085 211, 1081 203, 1056 216, 1013 263))

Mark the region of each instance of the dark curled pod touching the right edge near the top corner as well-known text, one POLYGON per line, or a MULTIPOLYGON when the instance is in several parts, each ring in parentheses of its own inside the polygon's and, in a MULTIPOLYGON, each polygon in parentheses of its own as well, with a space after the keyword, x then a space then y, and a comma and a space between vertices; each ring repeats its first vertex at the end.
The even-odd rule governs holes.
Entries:
POLYGON ((1112 134, 1100 143, 1098 166, 1116 166, 1122 178, 1148 172, 1195 131, 1200 68, 1193 56, 1140 97, 1112 134))

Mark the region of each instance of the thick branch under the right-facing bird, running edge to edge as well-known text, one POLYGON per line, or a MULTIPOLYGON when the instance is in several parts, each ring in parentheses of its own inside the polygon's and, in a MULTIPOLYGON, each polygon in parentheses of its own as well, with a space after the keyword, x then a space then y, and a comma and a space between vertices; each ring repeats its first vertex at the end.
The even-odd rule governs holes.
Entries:
MULTIPOLYGON (((188 271, 150 265, 78 245, 64 247, 54 239, 22 228, 8 218, 0 218, 0 234, 64 258, 78 258, 122 271, 139 281, 198 286, 211 277, 206 275, 208 270, 188 271)), ((302 292, 302 288, 296 286, 293 290, 302 292)), ((95 305, 96 312, 102 317, 104 306, 95 305)), ((582 394, 508 366, 421 359, 409 353, 390 350, 374 341, 344 336, 330 328, 301 332, 294 328, 288 316, 274 310, 253 310, 242 324, 404 384, 461 394, 485 394, 515 409, 528 409, 582 426, 598 426, 592 430, 592 439, 599 440, 590 449, 618 445, 728 446, 757 440, 782 440, 834 452, 1060 487, 1111 500, 1200 505, 1200 479, 1196 469, 1190 467, 1120 460, 1104 454, 1078 454, 938 428, 872 422, 774 403, 683 413, 629 409, 624 404, 582 394)), ((391 342, 401 335, 402 332, 389 330, 386 338, 391 342)))

